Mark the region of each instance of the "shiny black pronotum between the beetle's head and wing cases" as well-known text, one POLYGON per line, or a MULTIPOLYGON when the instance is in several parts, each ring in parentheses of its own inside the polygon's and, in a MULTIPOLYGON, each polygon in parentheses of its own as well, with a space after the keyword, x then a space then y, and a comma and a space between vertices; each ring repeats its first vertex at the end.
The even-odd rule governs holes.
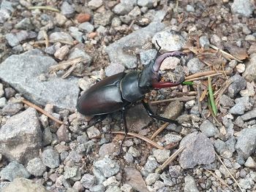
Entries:
POLYGON ((140 72, 130 72, 121 80, 121 94, 123 98, 131 103, 143 99, 144 94, 139 88, 140 72))

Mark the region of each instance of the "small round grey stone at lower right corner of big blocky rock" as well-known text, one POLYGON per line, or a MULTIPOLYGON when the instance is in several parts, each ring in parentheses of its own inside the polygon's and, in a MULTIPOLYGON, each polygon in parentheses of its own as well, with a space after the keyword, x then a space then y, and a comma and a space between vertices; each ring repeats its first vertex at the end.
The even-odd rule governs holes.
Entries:
POLYGON ((42 163, 40 158, 33 158, 29 161, 26 169, 34 176, 42 176, 46 171, 46 166, 42 163))

